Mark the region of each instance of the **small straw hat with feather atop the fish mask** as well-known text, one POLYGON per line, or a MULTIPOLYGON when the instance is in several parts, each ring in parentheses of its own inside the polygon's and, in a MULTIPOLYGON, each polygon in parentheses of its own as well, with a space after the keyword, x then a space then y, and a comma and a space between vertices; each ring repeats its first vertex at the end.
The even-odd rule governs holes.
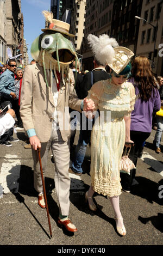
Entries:
POLYGON ((53 19, 53 13, 49 12, 49 11, 42 11, 43 15, 45 16, 45 19, 50 23, 48 28, 43 28, 41 29, 41 31, 45 32, 45 31, 55 31, 61 34, 65 34, 68 36, 75 36, 73 34, 69 33, 70 30, 70 24, 64 22, 64 21, 60 21, 60 20, 55 20, 53 19))

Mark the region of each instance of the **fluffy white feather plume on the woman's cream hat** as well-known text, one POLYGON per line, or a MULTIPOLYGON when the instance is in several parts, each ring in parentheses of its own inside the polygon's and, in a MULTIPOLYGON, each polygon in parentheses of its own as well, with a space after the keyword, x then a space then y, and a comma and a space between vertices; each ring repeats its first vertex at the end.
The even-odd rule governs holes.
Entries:
POLYGON ((118 42, 114 38, 109 38, 106 34, 99 36, 89 34, 87 41, 92 48, 95 59, 97 59, 99 63, 104 66, 112 63, 115 54, 114 47, 118 46, 118 42))

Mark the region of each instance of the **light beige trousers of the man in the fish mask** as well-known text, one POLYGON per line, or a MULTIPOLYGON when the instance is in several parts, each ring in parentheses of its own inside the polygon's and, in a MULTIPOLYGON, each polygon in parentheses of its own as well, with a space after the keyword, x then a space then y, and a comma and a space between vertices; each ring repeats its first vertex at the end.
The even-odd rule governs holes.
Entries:
MULTIPOLYGON (((54 122, 53 122, 54 123, 54 122)), ((59 201, 59 211, 61 215, 68 215, 70 208, 70 182, 68 168, 70 166, 70 142, 63 141, 60 130, 56 129, 54 123, 52 127, 51 138, 46 143, 41 143, 41 162, 43 176, 45 177, 48 153, 50 148, 54 157, 55 174, 54 182, 59 201)), ((43 191, 39 158, 37 151, 32 149, 34 159, 34 188, 37 192, 43 191)))

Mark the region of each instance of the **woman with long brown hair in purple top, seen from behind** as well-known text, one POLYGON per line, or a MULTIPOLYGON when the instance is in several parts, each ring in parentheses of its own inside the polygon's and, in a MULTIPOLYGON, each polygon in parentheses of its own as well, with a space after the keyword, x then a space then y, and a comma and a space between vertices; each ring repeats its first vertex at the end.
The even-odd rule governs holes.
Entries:
MULTIPOLYGON (((137 56, 131 64, 129 82, 135 88, 136 101, 131 113, 130 125, 130 138, 134 141, 134 147, 131 148, 129 158, 136 167, 142 144, 151 135, 152 113, 159 111, 161 102, 149 60, 144 56, 137 56)), ((130 192, 135 174, 136 169, 130 170, 130 175, 121 173, 121 185, 124 191, 130 192)))

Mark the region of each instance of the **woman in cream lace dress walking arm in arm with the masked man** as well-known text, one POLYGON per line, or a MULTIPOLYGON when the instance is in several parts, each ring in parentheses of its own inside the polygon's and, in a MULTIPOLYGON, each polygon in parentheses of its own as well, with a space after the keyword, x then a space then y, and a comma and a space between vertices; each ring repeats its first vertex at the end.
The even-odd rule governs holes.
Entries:
MULTIPOLYGON (((133 84, 127 82, 131 68, 129 60, 133 53, 124 47, 115 47, 114 51, 116 62, 108 64, 110 80, 93 84, 87 95, 87 99, 95 103, 95 110, 98 109, 100 115, 91 133, 91 186, 85 199, 89 208, 96 211, 93 193, 96 191, 108 196, 115 212, 117 231, 126 235, 119 205, 122 189, 119 166, 124 144, 133 143, 130 140, 130 114, 134 109, 135 89, 133 84), (127 58, 125 63, 123 57, 127 58), (122 65, 118 65, 117 60, 122 65)), ((84 110, 88 111, 89 108, 84 110)))

